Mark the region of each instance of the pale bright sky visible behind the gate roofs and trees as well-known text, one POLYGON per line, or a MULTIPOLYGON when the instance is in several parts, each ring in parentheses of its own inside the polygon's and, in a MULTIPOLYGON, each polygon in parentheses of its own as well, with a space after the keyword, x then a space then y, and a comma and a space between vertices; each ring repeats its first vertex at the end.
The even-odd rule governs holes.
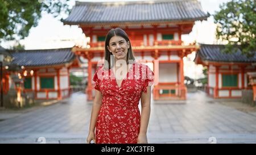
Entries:
MULTIPOLYGON (((83 1, 83 0, 80 0, 83 1)), ((115 0, 115 1, 127 1, 127 0, 115 0)), ((134 0, 129 0, 134 1, 134 0)), ((138 0, 135 0, 138 1, 138 0)), ((214 14, 219 10, 220 4, 228 2, 230 0, 198 0, 201 3, 204 12, 214 14)), ((106 2, 97 0, 84 0, 83 2, 106 2)), ((109 1, 108 1, 109 2, 109 1)), ((75 0, 69 2, 69 7, 75 5, 75 0)), ((68 15, 62 15, 61 18, 65 19, 68 15)), ((216 26, 213 22, 213 17, 210 16, 208 20, 202 22, 195 22, 192 32, 188 35, 181 36, 181 40, 187 43, 191 43, 196 40, 197 43, 216 44, 215 40, 216 26)), ((8 41, 1 43, 3 48, 10 48, 14 44, 14 41, 8 41)), ((25 49, 50 49, 50 48, 66 48, 73 47, 74 45, 85 45, 86 37, 82 33, 81 28, 78 26, 63 25, 60 22, 60 18, 53 18, 52 15, 43 14, 39 20, 37 27, 32 27, 30 34, 23 40, 20 40, 20 44, 25 46, 25 49)), ((203 66, 195 65, 193 58, 195 52, 184 58, 184 74, 191 78, 203 77, 203 66)))

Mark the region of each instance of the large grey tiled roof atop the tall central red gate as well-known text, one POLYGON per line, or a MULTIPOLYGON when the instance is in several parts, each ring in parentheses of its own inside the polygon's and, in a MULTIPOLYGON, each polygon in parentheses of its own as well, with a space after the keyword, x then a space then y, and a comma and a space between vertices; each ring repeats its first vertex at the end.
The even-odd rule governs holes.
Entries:
POLYGON ((205 20, 197 0, 76 2, 64 24, 205 20))

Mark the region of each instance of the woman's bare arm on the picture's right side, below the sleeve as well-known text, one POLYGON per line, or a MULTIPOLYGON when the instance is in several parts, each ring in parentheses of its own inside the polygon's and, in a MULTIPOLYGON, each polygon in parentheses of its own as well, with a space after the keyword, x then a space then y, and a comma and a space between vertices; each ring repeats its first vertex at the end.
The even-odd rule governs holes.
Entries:
POLYGON ((141 96, 141 127, 139 129, 138 143, 147 143, 147 126, 150 119, 151 86, 147 87, 147 93, 141 96))

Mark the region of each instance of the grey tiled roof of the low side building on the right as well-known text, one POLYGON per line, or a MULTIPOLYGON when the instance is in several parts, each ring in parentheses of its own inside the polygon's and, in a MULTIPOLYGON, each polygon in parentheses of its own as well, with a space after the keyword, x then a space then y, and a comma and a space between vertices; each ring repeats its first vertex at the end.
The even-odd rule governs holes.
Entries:
POLYGON ((222 53, 224 45, 200 44, 200 50, 197 52, 196 58, 199 56, 202 61, 216 62, 256 62, 256 53, 254 57, 247 58, 242 55, 240 49, 236 53, 222 53))

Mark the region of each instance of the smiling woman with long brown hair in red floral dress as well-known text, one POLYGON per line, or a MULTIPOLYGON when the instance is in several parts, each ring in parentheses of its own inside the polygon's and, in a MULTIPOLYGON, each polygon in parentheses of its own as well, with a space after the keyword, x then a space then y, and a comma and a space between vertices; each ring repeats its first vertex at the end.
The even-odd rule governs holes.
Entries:
POLYGON ((87 143, 147 143, 154 73, 135 62, 129 37, 121 28, 108 32, 105 63, 96 70, 93 81, 96 93, 87 143))

